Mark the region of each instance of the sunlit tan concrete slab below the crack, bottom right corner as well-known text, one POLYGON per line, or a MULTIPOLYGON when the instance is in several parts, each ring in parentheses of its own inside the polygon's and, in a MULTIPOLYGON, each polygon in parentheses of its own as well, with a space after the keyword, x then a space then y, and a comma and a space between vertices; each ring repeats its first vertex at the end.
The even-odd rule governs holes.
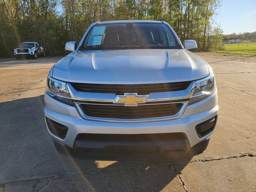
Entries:
POLYGON ((181 174, 188 191, 255 191, 256 158, 231 158, 188 164, 181 174))

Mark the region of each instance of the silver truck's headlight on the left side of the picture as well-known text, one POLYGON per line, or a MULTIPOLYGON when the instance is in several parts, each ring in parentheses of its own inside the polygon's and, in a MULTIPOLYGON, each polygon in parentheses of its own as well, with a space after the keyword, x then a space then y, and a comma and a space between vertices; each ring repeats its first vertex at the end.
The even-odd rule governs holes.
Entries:
POLYGON ((52 98, 74 106, 66 82, 62 82, 48 76, 46 91, 52 98))

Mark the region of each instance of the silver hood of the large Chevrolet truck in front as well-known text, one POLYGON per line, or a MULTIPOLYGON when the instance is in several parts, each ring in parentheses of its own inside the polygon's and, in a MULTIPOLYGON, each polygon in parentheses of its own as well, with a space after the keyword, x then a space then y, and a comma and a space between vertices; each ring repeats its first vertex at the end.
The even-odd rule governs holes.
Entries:
POLYGON ((58 80, 98 84, 180 82, 208 75, 208 64, 184 49, 74 51, 52 70, 58 80))

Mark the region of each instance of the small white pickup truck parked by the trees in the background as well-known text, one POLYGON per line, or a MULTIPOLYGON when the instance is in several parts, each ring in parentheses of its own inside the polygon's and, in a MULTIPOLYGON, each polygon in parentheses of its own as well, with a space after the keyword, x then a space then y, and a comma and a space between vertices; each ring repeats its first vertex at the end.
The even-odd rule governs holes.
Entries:
POLYGON ((14 48, 16 59, 30 56, 37 59, 39 56, 45 57, 45 49, 37 42, 23 42, 17 48, 14 48))

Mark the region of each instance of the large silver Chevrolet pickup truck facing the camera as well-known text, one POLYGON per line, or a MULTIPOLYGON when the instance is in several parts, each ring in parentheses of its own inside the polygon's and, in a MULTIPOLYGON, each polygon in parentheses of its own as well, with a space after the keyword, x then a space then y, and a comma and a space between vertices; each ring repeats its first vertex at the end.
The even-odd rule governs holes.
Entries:
POLYGON ((181 158, 206 150, 218 120, 212 68, 167 22, 93 23, 50 70, 48 131, 61 154, 181 158))

